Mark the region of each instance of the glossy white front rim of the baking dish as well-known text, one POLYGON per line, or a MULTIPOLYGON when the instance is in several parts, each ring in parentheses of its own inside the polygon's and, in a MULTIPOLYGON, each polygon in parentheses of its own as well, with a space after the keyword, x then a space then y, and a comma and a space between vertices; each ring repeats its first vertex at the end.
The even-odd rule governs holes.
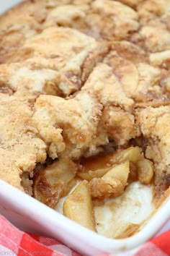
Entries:
MULTIPOLYGON (((71 236, 81 238, 81 241, 85 244, 91 244, 92 247, 102 249, 104 252, 122 252, 135 249, 148 241, 148 239, 151 239, 170 218, 170 196, 168 196, 160 208, 156 210, 156 213, 154 213, 145 226, 143 226, 141 231, 128 238, 111 239, 80 226, 78 223, 71 221, 61 213, 49 208, 47 205, 42 204, 42 202, 35 200, 35 198, 30 197, 30 195, 25 194, 2 180, 0 180, 0 202, 1 201, 8 202, 9 205, 12 206, 12 209, 19 211, 19 214, 23 214, 20 208, 20 205, 22 205, 24 208, 24 216, 34 216, 35 221, 39 224, 48 221, 48 227, 49 224, 51 224, 50 232, 54 234, 55 238, 57 238, 57 232, 53 232, 54 225, 58 226, 58 230, 67 231, 71 236)), ((68 241, 64 241, 64 243, 66 242, 68 241)))

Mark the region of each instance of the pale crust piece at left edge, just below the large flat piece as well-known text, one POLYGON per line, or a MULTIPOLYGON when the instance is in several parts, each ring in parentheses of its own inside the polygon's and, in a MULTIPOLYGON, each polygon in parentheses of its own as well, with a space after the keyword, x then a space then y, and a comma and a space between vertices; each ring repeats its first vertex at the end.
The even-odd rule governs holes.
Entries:
MULTIPOLYGON (((40 94, 63 95, 62 78, 52 69, 35 69, 29 64, 2 64, 0 66, 0 92, 35 101, 40 94)), ((69 86, 68 82, 68 86, 69 86)))

